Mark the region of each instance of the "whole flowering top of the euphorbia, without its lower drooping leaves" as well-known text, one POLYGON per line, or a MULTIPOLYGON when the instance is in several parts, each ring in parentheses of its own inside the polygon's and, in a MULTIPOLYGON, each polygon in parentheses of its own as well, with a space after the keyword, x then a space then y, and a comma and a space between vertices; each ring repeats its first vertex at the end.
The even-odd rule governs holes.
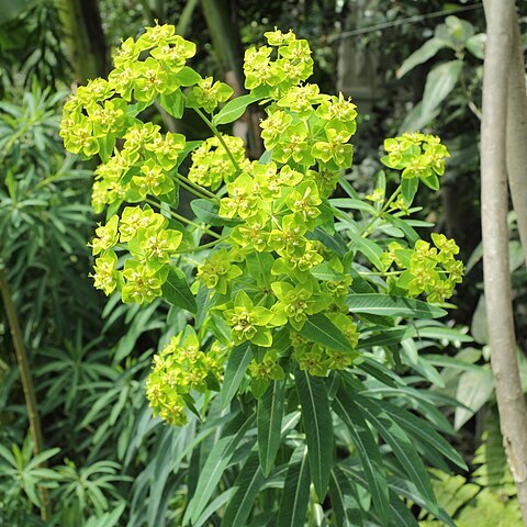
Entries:
MULTIPOLYGON (((123 42, 108 80, 78 88, 64 109, 66 148, 101 160, 92 201, 106 222, 91 244, 96 288, 119 291, 123 302, 161 296, 187 310, 187 329, 155 357, 147 381, 152 407, 171 424, 186 422, 187 406, 197 412, 199 394, 221 389, 234 347, 236 357, 240 346, 250 350, 246 382, 236 379, 256 397, 299 371, 326 377, 362 360, 362 334, 374 338, 395 325, 375 311, 354 314, 348 295, 425 294, 441 303, 463 272, 452 240, 433 235, 430 247, 402 220, 419 180, 438 187, 446 147, 423 134, 386 139, 382 160, 402 171, 402 184, 388 200, 378 188, 367 197, 374 206, 358 200, 345 180, 355 104, 305 82, 313 71, 306 41, 278 30, 266 37, 269 46, 246 52, 245 99, 227 102, 227 85, 187 65, 195 46, 156 25, 123 42), (266 112, 258 160, 214 124, 238 119, 251 102, 266 112), (188 141, 143 122, 154 103, 176 117, 193 109, 211 137, 188 141), (349 200, 330 199, 339 181, 349 200), (198 198, 194 218, 177 212, 181 188, 198 198)), ((200 401, 204 412, 208 397, 200 401)))

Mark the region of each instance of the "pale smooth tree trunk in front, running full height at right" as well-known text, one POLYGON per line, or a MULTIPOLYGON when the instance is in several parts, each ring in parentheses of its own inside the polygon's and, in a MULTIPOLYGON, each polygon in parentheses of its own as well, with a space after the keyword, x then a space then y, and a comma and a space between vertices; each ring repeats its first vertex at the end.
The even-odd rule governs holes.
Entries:
POLYGON ((486 0, 487 40, 481 125, 483 268, 491 363, 500 425, 518 502, 527 526, 527 414, 514 334, 507 227, 507 78, 515 4, 486 0))

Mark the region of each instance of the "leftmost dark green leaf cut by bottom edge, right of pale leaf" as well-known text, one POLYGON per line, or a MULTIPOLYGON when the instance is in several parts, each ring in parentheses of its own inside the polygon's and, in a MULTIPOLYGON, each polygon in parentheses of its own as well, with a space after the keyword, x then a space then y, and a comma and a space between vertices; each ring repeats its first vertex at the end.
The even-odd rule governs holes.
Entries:
POLYGON ((247 526, 247 518, 265 481, 259 466, 258 452, 253 451, 234 482, 236 490, 225 509, 222 527, 247 526))

